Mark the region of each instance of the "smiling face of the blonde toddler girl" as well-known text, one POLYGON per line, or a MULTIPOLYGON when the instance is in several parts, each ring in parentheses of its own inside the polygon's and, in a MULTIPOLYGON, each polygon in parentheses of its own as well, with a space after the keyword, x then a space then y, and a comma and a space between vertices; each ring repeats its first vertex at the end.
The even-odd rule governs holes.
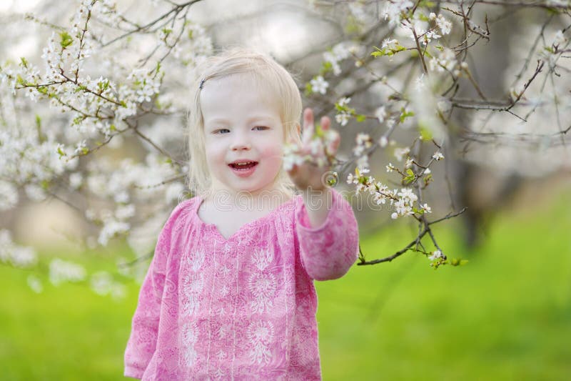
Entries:
POLYGON ((271 190, 282 166, 278 105, 249 76, 205 82, 201 90, 206 162, 213 190, 271 190), (239 167, 239 162, 242 167, 239 167))

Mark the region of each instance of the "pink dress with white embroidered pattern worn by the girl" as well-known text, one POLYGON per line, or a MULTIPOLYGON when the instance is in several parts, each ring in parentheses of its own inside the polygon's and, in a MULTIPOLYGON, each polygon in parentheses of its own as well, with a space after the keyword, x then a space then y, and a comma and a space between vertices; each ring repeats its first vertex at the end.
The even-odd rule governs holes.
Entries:
POLYGON ((320 380, 313 279, 342 277, 357 259, 358 227, 333 190, 311 228, 293 197, 225 239, 179 204, 158 237, 125 352, 142 380, 320 380))

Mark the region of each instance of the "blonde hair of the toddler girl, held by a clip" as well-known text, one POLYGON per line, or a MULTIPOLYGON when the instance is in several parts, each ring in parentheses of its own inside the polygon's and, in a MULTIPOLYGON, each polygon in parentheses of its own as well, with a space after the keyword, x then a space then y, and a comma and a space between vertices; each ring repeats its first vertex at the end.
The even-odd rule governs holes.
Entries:
MULTIPOLYGON (((243 48, 222 51, 208 57, 198 67, 198 76, 191 84, 191 104, 188 109, 188 188, 193 194, 203 194, 211 187, 211 176, 206 164, 204 119, 201 109, 201 88, 211 79, 232 75, 248 75, 254 84, 271 91, 279 104, 284 141, 299 142, 301 96, 293 76, 271 56, 243 48)), ((275 179, 276 188, 293 194, 293 183, 283 167, 275 179)))

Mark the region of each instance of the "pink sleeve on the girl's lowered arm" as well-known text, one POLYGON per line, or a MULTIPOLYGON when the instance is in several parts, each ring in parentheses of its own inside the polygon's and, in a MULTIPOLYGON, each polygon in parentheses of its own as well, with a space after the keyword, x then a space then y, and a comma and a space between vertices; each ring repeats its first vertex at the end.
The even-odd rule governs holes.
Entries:
POLYGON ((141 285, 137 308, 131 324, 131 336, 125 350, 124 375, 126 377, 141 379, 156 350, 161 299, 171 248, 171 231, 178 214, 176 212, 180 208, 181 205, 176 207, 158 235, 151 265, 141 285))

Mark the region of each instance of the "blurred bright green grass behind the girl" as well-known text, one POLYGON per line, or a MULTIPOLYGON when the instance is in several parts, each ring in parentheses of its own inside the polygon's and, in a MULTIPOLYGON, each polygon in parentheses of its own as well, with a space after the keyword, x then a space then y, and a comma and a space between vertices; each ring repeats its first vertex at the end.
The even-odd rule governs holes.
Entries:
MULTIPOLYGON (((453 220, 437 227, 463 267, 434 271, 410 252, 317 282, 323 379, 570 380, 570 204, 500 215, 470 254, 453 220)), ((363 252, 391 254, 408 233, 363 238, 363 252)), ((36 295, 28 274, 0 265, 0 380, 122 380, 138 285, 122 302, 74 284, 36 295)))

